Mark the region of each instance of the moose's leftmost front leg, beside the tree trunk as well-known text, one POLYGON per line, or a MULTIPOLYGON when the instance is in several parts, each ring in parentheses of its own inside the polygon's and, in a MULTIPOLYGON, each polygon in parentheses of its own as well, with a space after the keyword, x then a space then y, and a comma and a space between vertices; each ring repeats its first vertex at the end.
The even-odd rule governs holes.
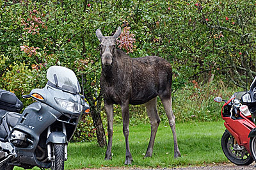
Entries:
POLYGON ((108 148, 106 151, 105 160, 109 160, 112 158, 111 148, 112 148, 112 140, 113 140, 113 104, 108 104, 104 102, 104 108, 108 117, 108 148))

